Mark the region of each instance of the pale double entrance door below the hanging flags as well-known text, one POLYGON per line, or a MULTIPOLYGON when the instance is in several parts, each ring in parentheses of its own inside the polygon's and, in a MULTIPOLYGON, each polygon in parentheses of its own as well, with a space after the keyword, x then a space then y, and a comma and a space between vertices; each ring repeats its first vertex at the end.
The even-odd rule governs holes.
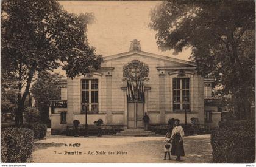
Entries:
POLYGON ((144 103, 128 102, 127 103, 127 128, 140 129, 143 128, 144 103))

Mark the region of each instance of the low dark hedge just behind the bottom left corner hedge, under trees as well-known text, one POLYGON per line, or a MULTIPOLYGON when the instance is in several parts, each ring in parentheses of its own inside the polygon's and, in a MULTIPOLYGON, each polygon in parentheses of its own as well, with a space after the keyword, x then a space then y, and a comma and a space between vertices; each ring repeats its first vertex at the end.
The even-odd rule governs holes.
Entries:
POLYGON ((44 138, 47 132, 47 125, 46 124, 40 124, 40 123, 35 123, 35 124, 24 124, 24 128, 29 128, 32 129, 34 132, 34 138, 35 139, 41 139, 44 138))

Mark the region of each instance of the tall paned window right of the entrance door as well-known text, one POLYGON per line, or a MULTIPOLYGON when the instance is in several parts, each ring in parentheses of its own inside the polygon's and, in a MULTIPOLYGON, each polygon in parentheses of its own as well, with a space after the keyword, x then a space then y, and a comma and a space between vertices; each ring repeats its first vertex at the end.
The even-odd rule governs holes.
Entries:
POLYGON ((173 110, 190 110, 190 78, 173 78, 173 110))

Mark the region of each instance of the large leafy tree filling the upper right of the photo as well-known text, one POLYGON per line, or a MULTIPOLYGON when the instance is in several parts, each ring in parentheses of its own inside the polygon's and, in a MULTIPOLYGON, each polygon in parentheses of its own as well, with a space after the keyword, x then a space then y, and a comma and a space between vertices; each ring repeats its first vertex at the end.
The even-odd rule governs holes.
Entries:
POLYGON ((165 1, 151 12, 162 50, 191 48, 204 77, 216 78, 235 98, 236 118, 249 118, 255 101, 254 1, 165 1))

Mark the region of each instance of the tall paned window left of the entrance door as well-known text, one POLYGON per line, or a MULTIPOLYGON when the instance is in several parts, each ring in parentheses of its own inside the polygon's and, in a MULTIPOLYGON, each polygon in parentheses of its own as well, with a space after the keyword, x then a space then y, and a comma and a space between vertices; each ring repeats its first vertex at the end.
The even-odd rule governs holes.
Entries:
MULTIPOLYGON (((98 80, 82 80, 82 104, 87 100, 87 111, 98 111, 98 80)), ((85 107, 82 106, 82 111, 85 107)))

